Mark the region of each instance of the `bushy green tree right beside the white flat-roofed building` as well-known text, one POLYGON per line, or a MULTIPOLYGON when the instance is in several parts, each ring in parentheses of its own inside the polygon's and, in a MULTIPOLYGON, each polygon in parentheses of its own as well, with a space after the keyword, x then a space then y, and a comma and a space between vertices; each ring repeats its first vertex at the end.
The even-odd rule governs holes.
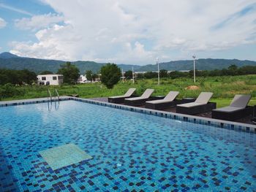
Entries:
POLYGON ((58 70, 58 74, 63 74, 63 82, 68 84, 75 84, 79 77, 79 69, 75 65, 72 65, 70 62, 67 62, 64 65, 61 65, 61 69, 58 70))

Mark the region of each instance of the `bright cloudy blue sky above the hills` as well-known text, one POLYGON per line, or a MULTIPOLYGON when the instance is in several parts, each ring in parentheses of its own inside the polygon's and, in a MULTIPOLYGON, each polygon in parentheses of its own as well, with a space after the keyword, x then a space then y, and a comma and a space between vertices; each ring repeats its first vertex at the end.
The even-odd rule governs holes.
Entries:
POLYGON ((256 0, 0 0, 0 52, 154 64, 256 61, 256 0))

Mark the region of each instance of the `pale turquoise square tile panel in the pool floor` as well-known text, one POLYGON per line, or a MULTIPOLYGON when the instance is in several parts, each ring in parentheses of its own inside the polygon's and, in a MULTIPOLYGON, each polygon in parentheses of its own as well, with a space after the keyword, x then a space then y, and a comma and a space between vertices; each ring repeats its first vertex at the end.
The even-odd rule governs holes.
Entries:
POLYGON ((92 158, 72 143, 42 150, 39 153, 53 170, 92 158))

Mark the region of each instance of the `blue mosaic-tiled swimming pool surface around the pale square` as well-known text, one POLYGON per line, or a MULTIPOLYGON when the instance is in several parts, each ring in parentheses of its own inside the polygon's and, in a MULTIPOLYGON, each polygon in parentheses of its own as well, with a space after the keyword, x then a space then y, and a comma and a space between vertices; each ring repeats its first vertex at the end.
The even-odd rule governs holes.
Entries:
POLYGON ((61 101, 0 108, 0 191, 256 191, 256 134, 61 101), (92 158, 51 169, 41 151, 92 158))

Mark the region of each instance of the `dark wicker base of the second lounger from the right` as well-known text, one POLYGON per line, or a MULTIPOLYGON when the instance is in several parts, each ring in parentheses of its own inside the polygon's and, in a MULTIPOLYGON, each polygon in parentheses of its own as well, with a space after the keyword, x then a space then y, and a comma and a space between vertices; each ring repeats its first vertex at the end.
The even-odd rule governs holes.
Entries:
POLYGON ((176 106, 176 112, 186 115, 195 115, 203 112, 210 112, 214 109, 216 109, 215 102, 208 102, 208 104, 202 104, 195 107, 176 106))

